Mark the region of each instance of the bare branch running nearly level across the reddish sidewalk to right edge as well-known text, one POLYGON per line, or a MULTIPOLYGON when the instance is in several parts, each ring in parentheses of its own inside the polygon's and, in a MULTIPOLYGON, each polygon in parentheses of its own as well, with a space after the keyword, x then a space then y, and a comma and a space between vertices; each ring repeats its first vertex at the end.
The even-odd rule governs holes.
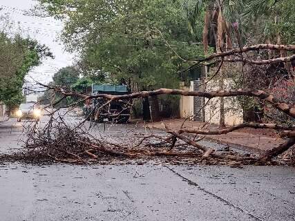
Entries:
POLYGON ((238 124, 236 126, 232 126, 229 128, 224 129, 218 129, 218 130, 198 130, 198 129, 187 129, 182 128, 178 132, 179 133, 195 133, 195 134, 202 134, 202 135, 220 135, 220 134, 226 134, 231 131, 236 131, 240 128, 270 128, 270 129, 276 129, 276 130, 292 130, 295 129, 295 126, 282 126, 279 124, 258 124, 258 123, 244 123, 244 124, 238 124))

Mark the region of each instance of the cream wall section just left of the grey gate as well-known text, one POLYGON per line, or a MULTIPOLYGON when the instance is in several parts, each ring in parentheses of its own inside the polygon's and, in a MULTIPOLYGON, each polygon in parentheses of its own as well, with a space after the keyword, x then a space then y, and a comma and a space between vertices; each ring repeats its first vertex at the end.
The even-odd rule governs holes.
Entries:
MULTIPOLYGON (((184 82, 180 82, 180 89, 193 90, 193 81, 191 86, 184 86, 184 82)), ((180 96, 180 117, 187 118, 193 116, 193 97, 180 96)))

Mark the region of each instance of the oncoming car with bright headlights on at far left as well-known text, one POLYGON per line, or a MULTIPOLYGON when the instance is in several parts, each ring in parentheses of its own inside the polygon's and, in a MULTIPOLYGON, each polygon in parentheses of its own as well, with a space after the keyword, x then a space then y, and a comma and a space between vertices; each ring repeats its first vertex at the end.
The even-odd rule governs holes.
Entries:
POLYGON ((21 122, 21 119, 35 119, 39 122, 41 110, 34 103, 21 104, 16 115, 17 122, 21 122))

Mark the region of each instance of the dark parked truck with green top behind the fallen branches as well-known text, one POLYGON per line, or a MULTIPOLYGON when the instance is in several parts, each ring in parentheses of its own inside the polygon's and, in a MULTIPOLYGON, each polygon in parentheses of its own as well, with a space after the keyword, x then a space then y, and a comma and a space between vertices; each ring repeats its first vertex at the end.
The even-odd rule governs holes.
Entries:
MULTIPOLYGON (((97 94, 126 95, 129 92, 125 85, 93 85, 92 95, 97 94)), ((131 105, 128 101, 112 101, 108 106, 103 106, 105 102, 102 99, 91 99, 86 102, 84 114, 88 120, 114 123, 129 122, 131 105)))

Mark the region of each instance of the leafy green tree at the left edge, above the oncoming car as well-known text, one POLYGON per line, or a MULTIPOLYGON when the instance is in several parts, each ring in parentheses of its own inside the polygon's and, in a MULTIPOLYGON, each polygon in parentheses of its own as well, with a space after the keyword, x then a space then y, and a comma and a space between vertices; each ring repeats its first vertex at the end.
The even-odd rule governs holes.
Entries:
POLYGON ((0 101, 8 106, 21 103, 24 77, 44 57, 53 57, 50 50, 30 38, 0 34, 0 101))

